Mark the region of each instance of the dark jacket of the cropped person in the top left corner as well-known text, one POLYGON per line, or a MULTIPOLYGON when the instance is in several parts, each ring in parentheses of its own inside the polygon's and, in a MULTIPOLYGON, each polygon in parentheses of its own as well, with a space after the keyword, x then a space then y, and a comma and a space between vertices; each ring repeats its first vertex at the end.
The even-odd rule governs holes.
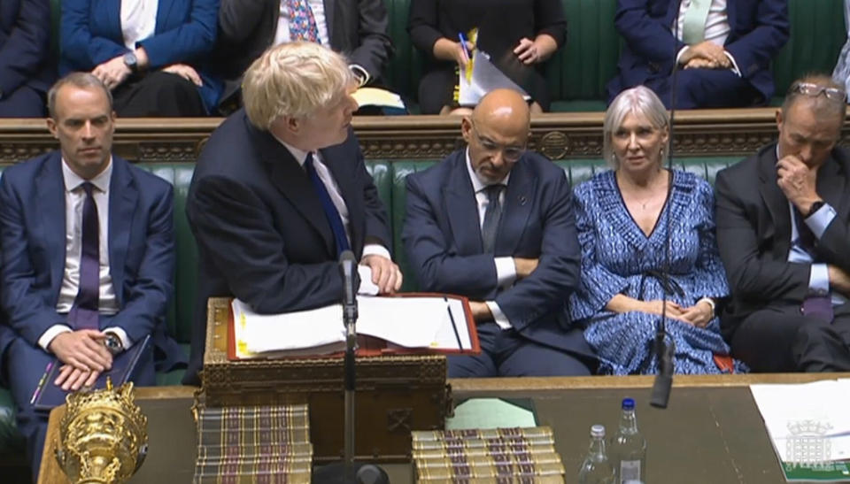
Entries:
POLYGON ((49 55, 50 2, 0 0, 0 91, 4 96, 25 84, 47 92, 53 78, 49 55))

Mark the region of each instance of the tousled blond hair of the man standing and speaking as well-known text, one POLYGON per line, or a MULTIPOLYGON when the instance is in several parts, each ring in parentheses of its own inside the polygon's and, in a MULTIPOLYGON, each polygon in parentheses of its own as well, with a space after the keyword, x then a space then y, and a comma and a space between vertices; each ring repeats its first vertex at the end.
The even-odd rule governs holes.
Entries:
POLYGON ((255 60, 242 83, 251 123, 269 129, 282 116, 309 117, 344 92, 354 80, 343 56, 314 42, 288 42, 255 60))

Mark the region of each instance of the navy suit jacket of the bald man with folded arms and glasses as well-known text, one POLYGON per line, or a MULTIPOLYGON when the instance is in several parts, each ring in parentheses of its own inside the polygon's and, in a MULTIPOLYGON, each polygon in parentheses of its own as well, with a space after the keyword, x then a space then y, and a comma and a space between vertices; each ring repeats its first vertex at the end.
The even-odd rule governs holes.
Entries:
POLYGON ((529 340, 593 357, 567 311, 568 296, 578 287, 581 250, 564 172, 530 151, 514 165, 495 254, 483 253, 473 190, 466 150, 407 177, 402 237, 422 290, 495 301, 529 340), (499 291, 494 257, 539 257, 539 265, 499 291))

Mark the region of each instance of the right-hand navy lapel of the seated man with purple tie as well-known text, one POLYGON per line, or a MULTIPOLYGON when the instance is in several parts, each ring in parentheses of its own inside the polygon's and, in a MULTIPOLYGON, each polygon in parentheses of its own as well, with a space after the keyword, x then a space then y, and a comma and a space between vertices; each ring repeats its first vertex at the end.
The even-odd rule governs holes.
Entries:
POLYGON ((139 192, 127 162, 112 157, 112 179, 109 181, 109 273, 120 306, 124 305, 124 265, 130 247, 135 208, 139 192))

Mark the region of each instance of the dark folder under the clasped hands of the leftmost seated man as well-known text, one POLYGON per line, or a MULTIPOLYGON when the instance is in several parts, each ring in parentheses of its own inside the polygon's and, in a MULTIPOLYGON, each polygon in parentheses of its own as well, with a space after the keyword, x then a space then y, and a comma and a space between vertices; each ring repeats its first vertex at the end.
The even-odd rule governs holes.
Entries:
MULTIPOLYGON (((141 342, 136 342, 127 351, 122 351, 112 358, 112 368, 108 372, 101 373, 97 377, 93 388, 106 388, 106 378, 112 380, 112 385, 116 387, 127 383, 135 375, 136 365, 139 358, 142 357, 148 345, 151 342, 151 335, 147 335, 141 342)), ((62 367, 62 362, 54 359, 47 368, 47 371, 42 375, 42 379, 38 382, 38 388, 35 388, 35 401, 33 406, 38 411, 50 411, 53 407, 57 407, 65 403, 65 397, 70 392, 66 392, 61 387, 56 386, 53 382, 59 374, 59 368, 62 367)))

